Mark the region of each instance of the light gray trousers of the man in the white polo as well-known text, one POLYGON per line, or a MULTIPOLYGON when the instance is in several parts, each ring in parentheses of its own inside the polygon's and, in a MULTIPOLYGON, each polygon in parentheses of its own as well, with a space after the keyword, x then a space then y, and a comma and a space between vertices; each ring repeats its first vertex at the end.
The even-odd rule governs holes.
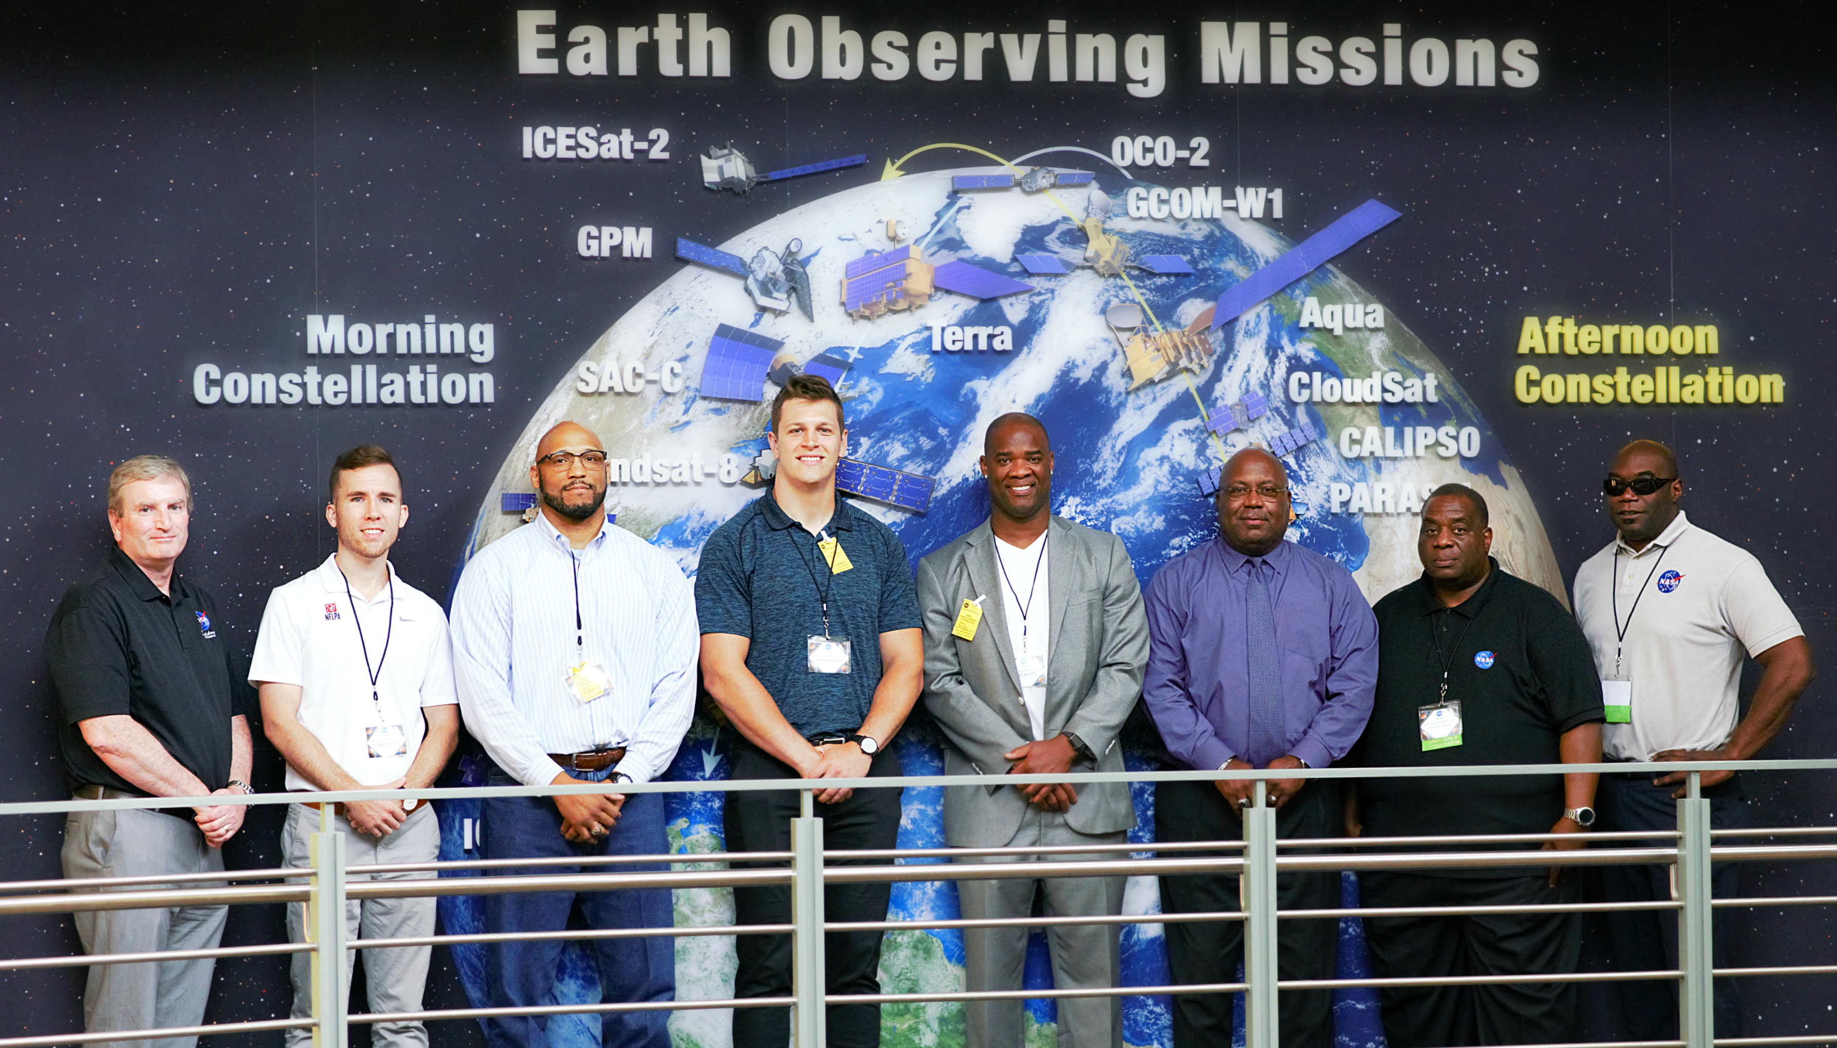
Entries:
MULTIPOLYGON (((345 837, 347 881, 402 881, 432 877, 426 874, 364 874, 362 866, 386 863, 432 863, 441 850, 441 824, 434 817, 430 804, 421 804, 408 813, 408 820, 388 837, 371 837, 351 830, 351 824, 334 817, 332 826, 345 837)), ((320 831, 320 811, 305 804, 287 806, 287 828, 281 830, 281 863, 288 866, 310 866, 310 837, 320 831)), ((384 940, 434 934, 434 899, 362 899, 345 903, 345 934, 353 940, 384 940)), ((288 903, 287 938, 307 942, 307 907, 288 903)), ((371 1011, 421 1011, 421 991, 428 984, 428 960, 434 947, 366 949, 345 954, 345 980, 356 954, 364 954, 364 982, 369 986, 371 1011)), ((294 1019, 312 1015, 312 954, 296 953, 292 964, 294 976, 294 1019)), ((377 1048, 426 1048, 428 1030, 419 1022, 373 1022, 369 1041, 377 1048)), ((312 1042, 310 1030, 288 1030, 287 1048, 303 1048, 312 1042)))

